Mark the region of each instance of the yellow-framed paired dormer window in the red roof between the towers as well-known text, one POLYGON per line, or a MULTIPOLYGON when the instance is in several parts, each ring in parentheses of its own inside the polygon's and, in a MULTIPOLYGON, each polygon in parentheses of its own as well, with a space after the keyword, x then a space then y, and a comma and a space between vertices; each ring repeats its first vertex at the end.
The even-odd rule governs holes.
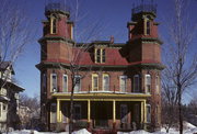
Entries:
POLYGON ((95 48, 95 63, 105 63, 105 49, 103 48, 95 48))

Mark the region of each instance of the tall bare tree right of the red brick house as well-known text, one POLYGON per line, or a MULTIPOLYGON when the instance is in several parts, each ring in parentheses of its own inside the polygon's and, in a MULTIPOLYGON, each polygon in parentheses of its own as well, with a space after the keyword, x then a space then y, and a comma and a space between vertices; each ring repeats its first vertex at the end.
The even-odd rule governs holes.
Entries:
MULTIPOLYGON (((165 81, 163 85, 167 98, 173 97, 173 104, 177 104, 179 134, 183 134, 183 93, 196 82, 197 57, 192 55, 192 41, 195 37, 196 25, 189 23, 189 15, 184 12, 188 9, 188 1, 174 0, 174 16, 167 25, 170 27, 171 45, 167 46, 169 55, 165 55, 166 69, 165 81), (172 96, 172 97, 171 97, 172 96)), ((166 47, 166 46, 165 46, 166 47)), ((172 103, 172 102, 171 102, 172 103)))

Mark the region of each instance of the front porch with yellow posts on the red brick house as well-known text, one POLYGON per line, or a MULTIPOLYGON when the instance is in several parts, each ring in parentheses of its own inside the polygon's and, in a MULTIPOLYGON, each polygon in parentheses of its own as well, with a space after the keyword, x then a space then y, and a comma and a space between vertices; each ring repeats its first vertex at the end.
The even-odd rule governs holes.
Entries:
MULTIPOLYGON (((81 97, 81 96, 80 96, 81 97)), ((147 98, 96 96, 74 98, 74 126, 88 129, 138 130, 147 123, 147 98), (108 98, 107 98, 108 97, 108 98)), ((69 123, 70 99, 57 98, 57 123, 69 123)))

